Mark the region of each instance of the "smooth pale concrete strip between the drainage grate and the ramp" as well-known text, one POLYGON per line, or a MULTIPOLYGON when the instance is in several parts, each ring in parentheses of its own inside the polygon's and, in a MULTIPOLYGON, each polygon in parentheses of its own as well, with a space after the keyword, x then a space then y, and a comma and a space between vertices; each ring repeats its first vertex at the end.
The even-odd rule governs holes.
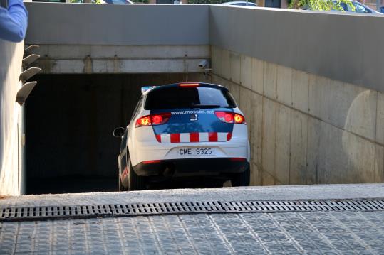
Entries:
POLYGON ((278 185, 130 192, 21 195, 0 197, 0 207, 108 205, 151 202, 329 200, 384 197, 384 183, 338 185, 278 185))

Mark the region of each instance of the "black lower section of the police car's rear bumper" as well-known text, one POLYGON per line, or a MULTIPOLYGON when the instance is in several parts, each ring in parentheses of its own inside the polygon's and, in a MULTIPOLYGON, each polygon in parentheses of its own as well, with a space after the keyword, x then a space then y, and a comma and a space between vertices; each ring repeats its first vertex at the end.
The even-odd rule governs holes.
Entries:
POLYGON ((248 167, 245 158, 182 158, 138 163, 133 170, 139 176, 187 177, 242 173, 248 167))

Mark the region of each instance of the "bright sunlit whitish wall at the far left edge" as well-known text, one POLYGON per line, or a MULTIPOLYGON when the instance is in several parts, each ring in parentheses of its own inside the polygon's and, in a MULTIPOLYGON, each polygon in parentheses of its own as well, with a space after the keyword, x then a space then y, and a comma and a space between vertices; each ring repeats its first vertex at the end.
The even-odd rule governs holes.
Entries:
POLYGON ((0 40, 0 195, 19 195, 22 112, 16 104, 24 44, 0 40))

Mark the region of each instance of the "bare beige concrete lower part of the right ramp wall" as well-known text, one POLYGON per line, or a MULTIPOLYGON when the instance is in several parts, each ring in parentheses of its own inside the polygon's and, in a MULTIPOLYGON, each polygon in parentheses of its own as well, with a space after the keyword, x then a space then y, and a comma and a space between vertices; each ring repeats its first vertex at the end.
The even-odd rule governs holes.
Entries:
POLYGON ((384 182, 384 93, 212 47, 251 138, 251 184, 384 182))

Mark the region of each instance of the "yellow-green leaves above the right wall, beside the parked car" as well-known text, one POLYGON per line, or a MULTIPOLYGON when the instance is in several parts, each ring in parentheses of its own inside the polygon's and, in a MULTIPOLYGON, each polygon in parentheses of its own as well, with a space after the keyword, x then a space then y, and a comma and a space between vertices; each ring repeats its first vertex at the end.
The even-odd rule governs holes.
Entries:
POLYGON ((347 4, 352 10, 355 6, 351 0, 289 0, 290 9, 308 9, 311 11, 344 11, 341 4, 347 4))

